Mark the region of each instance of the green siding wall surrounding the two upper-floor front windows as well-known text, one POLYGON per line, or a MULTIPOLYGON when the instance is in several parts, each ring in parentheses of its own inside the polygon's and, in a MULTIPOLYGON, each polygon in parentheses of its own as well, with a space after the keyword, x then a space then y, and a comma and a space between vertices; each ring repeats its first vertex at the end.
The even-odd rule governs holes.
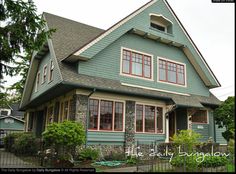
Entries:
POLYGON ((89 61, 80 61, 78 71, 81 74, 120 80, 123 83, 133 85, 209 96, 209 89, 204 85, 203 81, 180 49, 149 39, 144 39, 134 34, 125 34, 106 49, 99 52, 93 59, 89 61), (153 55, 154 81, 120 75, 121 47, 127 47, 153 55), (158 56, 186 64, 187 88, 157 82, 158 56))

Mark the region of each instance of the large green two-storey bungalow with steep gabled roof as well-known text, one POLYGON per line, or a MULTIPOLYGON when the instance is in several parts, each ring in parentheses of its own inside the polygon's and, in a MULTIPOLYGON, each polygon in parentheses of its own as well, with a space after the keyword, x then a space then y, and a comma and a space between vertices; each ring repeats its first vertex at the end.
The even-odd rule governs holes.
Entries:
POLYGON ((108 30, 43 16, 56 32, 31 61, 21 102, 27 131, 40 136, 51 122, 73 120, 89 145, 169 142, 183 129, 226 143, 214 124, 221 102, 209 91, 220 83, 167 1, 108 30))

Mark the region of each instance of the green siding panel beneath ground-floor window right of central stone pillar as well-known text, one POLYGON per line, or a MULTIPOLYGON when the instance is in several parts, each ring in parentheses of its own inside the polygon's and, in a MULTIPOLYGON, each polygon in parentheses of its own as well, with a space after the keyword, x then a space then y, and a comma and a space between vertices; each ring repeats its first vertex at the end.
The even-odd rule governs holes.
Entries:
POLYGON ((135 142, 139 141, 141 144, 150 144, 151 142, 156 141, 157 143, 165 142, 165 134, 142 134, 136 133, 135 134, 135 142))

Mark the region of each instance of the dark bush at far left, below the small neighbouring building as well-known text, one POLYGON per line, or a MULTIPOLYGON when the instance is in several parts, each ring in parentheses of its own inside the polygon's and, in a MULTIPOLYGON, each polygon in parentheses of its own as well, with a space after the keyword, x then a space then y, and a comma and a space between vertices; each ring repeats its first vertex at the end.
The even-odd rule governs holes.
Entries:
POLYGON ((10 133, 6 137, 4 137, 4 148, 8 152, 14 152, 13 145, 15 144, 15 140, 21 136, 23 132, 17 132, 17 133, 10 133))

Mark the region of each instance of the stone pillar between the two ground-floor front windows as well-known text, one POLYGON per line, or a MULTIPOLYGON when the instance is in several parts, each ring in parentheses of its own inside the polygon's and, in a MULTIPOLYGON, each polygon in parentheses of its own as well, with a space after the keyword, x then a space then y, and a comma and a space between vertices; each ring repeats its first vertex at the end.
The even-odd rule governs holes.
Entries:
POLYGON ((125 106, 125 151, 135 144, 135 101, 126 101, 125 106))

